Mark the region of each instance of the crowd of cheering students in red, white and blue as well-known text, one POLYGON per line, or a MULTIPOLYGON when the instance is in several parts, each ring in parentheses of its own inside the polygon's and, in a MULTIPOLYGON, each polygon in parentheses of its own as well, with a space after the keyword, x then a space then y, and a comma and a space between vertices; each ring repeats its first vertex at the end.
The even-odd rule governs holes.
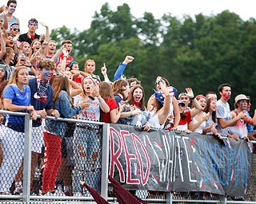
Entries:
MULTIPOLYGON (((40 194, 52 195, 57 178, 64 179, 62 190, 66 194, 82 196, 88 192, 82 189, 79 180, 100 191, 101 179, 101 127, 68 124, 46 116, 141 126, 144 131, 165 128, 219 139, 228 136, 255 140, 256 114, 253 118, 249 115, 250 97, 236 96, 234 111, 230 112, 230 84, 218 87, 218 100, 214 92, 194 96, 192 88, 178 95, 167 79, 156 77, 154 92, 146 100, 145 84, 134 77, 122 77, 134 57, 126 56, 119 64, 113 82, 104 65, 101 80, 94 75, 94 60, 87 60, 84 70, 78 68, 70 56, 72 41, 62 41, 62 48, 55 51, 56 42, 50 40, 45 23, 42 23, 46 27, 44 37, 35 33, 38 28, 35 18, 28 22, 28 32, 20 35, 18 18, 13 16, 16 6, 17 2, 10 0, 2 8, 4 14, 0 18, 0 108, 30 113, 33 120, 31 183, 43 155, 40 194)), ((1 114, 0 120, 0 194, 10 194, 13 182, 13 193, 20 194, 22 174, 18 172, 23 165, 24 117, 1 114)))

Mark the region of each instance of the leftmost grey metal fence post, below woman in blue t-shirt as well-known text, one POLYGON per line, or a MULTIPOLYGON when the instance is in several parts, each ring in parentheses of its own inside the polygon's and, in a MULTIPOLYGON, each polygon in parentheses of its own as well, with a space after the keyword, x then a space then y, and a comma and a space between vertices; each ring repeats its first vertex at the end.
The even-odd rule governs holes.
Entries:
POLYGON ((23 165, 23 202, 30 202, 32 120, 25 116, 24 165, 23 165))

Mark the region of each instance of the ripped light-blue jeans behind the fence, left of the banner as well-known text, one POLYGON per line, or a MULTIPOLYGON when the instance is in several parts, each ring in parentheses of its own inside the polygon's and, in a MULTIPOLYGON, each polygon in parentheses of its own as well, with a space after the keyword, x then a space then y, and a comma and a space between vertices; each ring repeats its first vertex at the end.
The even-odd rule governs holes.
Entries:
POLYGON ((74 131, 74 193, 82 192, 80 180, 94 190, 101 190, 102 132, 95 128, 76 127, 74 131))

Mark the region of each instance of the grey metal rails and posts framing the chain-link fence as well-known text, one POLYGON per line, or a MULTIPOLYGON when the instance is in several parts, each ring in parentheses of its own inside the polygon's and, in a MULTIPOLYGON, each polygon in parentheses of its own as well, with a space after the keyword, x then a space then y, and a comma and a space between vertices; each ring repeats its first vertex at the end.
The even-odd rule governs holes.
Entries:
MULTIPOLYGON (((39 195, 31 195, 30 192, 30 171, 31 171, 31 139, 32 139, 32 120, 30 120, 30 115, 28 113, 18 113, 18 112, 9 112, 9 111, 0 111, 3 114, 9 114, 9 115, 15 115, 15 116, 24 116, 25 117, 25 143, 24 143, 24 168, 23 168, 23 191, 22 195, 7 195, 7 194, 0 194, 0 203, 8 203, 8 202, 26 202, 26 203, 44 203, 49 202, 51 200, 52 202, 58 202, 62 203, 65 201, 69 201, 70 203, 75 202, 93 202, 94 199, 92 197, 74 197, 74 196, 39 196, 39 195)), ((39 116, 38 116, 39 117, 39 116)), ((49 120, 56 120, 56 118, 52 116, 47 116, 47 119, 49 120)), ((108 186, 108 167, 109 167, 109 126, 110 124, 105 124, 101 122, 92 122, 92 121, 86 121, 86 120, 74 120, 74 119, 62 119, 58 118, 59 121, 65 121, 69 123, 86 123, 86 124, 97 124, 102 126, 102 179, 101 179, 101 195, 103 198, 106 198, 108 202, 111 203, 117 203, 116 198, 109 196, 109 186, 108 186)), ((11 135, 9 135, 11 136, 11 135)), ((256 144, 254 141, 252 143, 256 144)), ((255 155, 254 155, 255 157, 255 155)), ((253 167, 256 169, 256 159, 253 159, 253 167)), ((252 169, 252 172, 254 172, 254 168, 252 169)), ((250 185, 252 186, 251 189, 254 190, 256 186, 256 179, 250 182, 250 185)), ((249 190, 250 191, 250 190, 249 190)), ((189 194, 183 197, 177 197, 175 194, 166 193, 162 198, 146 198, 145 190, 137 190, 137 195, 140 196, 143 194, 142 199, 144 199, 146 202, 154 202, 154 203, 256 203, 256 196, 254 195, 254 192, 250 193, 250 199, 254 199, 254 201, 231 201, 226 196, 218 196, 218 198, 213 199, 193 199, 190 197, 189 194), (141 194, 140 194, 141 193, 141 194)))

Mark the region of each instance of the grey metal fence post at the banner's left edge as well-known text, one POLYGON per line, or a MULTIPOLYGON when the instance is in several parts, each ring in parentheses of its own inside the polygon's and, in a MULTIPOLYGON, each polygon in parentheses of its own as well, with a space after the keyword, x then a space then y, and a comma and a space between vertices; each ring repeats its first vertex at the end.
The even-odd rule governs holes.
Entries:
POLYGON ((108 192, 108 167, 109 167, 109 153, 110 153, 110 124, 103 124, 102 131, 102 189, 101 195, 107 199, 108 192))

